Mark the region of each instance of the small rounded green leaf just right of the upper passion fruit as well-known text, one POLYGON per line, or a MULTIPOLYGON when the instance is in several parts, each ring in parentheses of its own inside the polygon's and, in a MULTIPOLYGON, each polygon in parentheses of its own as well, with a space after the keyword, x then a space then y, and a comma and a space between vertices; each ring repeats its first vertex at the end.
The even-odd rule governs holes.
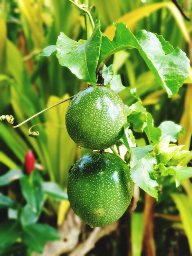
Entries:
POLYGON ((147 111, 141 105, 141 102, 137 101, 128 108, 127 122, 133 126, 135 132, 143 132, 143 129, 147 125, 147 111))

